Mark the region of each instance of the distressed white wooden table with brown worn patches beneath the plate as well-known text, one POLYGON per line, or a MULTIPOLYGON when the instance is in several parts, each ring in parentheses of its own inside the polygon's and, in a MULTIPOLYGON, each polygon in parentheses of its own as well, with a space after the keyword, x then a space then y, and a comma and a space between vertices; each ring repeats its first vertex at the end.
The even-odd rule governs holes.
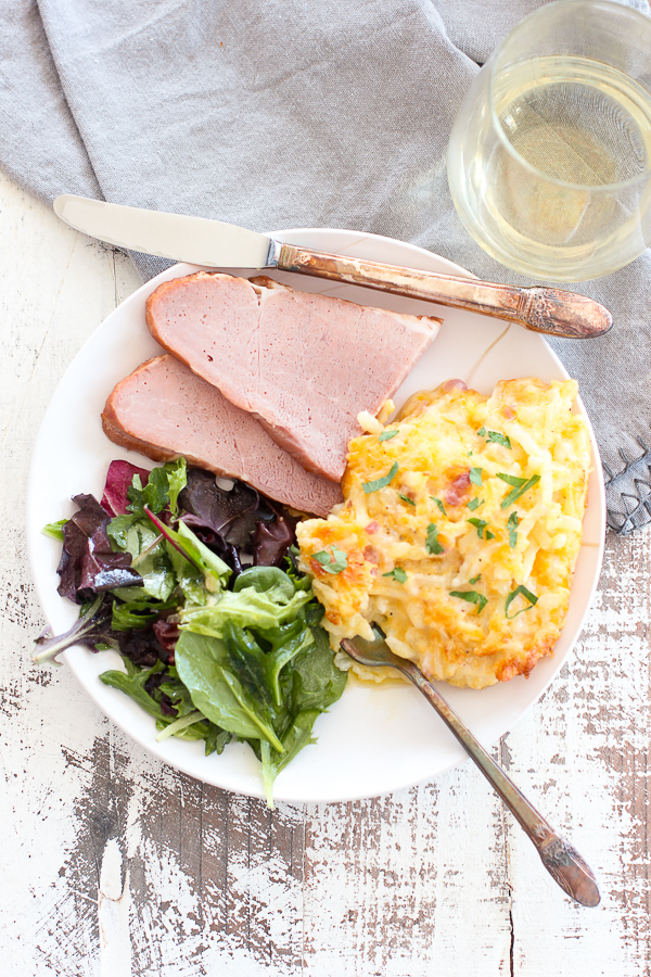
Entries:
POLYGON ((495 748, 598 873, 598 909, 565 899, 470 762, 388 797, 273 812, 176 773, 67 670, 29 660, 36 432, 67 364, 139 280, 5 178, 0 221, 0 973, 651 974, 649 533, 609 537, 574 655, 495 748))

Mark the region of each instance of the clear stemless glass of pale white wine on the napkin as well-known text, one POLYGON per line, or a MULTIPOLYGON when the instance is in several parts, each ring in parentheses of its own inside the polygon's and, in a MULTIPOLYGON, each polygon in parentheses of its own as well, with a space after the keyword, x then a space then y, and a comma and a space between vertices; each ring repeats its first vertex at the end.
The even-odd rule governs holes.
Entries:
POLYGON ((651 18, 558 0, 522 21, 470 88, 448 181, 472 237, 509 268, 584 281, 651 243, 651 18))

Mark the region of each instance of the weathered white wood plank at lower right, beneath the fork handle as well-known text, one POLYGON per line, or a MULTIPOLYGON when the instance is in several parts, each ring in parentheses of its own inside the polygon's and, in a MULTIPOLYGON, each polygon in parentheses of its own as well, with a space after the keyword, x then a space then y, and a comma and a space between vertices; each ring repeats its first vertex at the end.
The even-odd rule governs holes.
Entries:
POLYGON ((649 544, 648 533, 609 540, 600 591, 571 662, 509 737, 513 776, 544 798, 602 891, 589 912, 554 902, 552 883, 537 886, 532 901, 527 878, 537 859, 513 835, 514 960, 532 977, 576 973, 587 951, 598 974, 651 973, 649 544), (553 915, 537 916, 536 904, 553 915))

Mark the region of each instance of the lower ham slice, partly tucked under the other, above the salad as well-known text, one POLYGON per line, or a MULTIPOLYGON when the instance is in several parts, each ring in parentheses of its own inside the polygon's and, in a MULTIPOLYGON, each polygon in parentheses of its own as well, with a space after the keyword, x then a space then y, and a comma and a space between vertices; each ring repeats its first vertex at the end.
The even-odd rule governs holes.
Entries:
POLYGON ((256 419, 174 356, 157 356, 122 380, 106 401, 108 437, 154 461, 183 455, 190 465, 242 479, 264 495, 327 516, 342 502, 334 482, 308 472, 256 419))

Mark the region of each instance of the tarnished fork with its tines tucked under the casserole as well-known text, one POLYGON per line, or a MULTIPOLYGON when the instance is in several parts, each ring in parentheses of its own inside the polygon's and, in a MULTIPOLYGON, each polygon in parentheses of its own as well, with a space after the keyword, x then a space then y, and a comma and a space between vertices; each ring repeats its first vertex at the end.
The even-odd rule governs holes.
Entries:
POLYGON ((341 643, 342 649, 360 664, 397 669, 413 682, 434 707, 447 727, 472 757, 487 781, 495 787, 505 804, 534 842, 540 860, 559 886, 582 905, 599 905, 600 894, 597 880, 579 853, 554 832, 551 825, 536 811, 505 771, 489 757, 484 747, 474 738, 448 706, 441 693, 425 678, 420 669, 405 658, 394 655, 379 635, 375 642, 361 638, 341 643))

